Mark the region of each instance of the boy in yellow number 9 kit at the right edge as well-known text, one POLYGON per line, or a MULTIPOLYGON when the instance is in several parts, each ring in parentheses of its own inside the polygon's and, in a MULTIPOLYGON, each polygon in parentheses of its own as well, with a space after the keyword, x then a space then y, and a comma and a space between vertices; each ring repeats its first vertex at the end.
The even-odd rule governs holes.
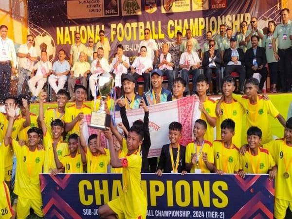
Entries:
MULTIPOLYGON (((292 117, 286 122, 284 138, 264 145, 278 167, 275 181, 274 217, 284 219, 289 207, 292 211, 292 117)), ((286 218, 288 218, 286 216, 286 218)))

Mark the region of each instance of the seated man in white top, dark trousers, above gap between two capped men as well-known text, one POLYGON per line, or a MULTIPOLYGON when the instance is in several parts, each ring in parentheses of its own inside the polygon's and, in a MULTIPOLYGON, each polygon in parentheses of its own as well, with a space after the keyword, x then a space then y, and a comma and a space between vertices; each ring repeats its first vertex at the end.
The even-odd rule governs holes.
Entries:
POLYGON ((150 88, 150 72, 153 69, 153 65, 151 59, 146 54, 147 48, 142 46, 140 48, 140 56, 135 58, 131 66, 131 73, 136 80, 135 92, 138 91, 137 79, 142 76, 144 78, 144 91, 148 91, 150 88))

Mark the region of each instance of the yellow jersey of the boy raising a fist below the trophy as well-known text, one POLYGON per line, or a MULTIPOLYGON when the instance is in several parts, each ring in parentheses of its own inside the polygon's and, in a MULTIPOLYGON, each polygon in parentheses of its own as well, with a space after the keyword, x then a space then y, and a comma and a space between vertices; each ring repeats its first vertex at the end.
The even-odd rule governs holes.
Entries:
POLYGON ((108 165, 110 164, 110 151, 104 148, 106 154, 94 156, 90 149, 86 151, 87 172, 88 173, 107 173, 108 165))

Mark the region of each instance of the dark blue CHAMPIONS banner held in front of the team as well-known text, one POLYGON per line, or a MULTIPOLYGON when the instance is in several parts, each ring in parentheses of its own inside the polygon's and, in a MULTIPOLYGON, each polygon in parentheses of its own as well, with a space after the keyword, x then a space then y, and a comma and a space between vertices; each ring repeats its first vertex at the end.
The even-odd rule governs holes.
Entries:
MULTIPOLYGON (((123 193, 121 174, 40 175, 45 218, 96 219, 100 205, 123 193)), ((268 175, 142 174, 148 219, 271 219, 268 175)))

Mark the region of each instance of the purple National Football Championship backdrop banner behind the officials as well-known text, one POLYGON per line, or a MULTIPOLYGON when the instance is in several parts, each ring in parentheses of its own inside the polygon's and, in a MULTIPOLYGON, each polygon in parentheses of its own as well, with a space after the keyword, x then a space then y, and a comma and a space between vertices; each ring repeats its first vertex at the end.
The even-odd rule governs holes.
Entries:
POLYGON ((163 42, 174 42, 177 31, 184 40, 188 28, 202 46, 206 31, 215 35, 222 23, 236 35, 241 21, 249 24, 256 16, 258 28, 263 29, 270 19, 280 22, 279 12, 280 0, 29 0, 28 26, 38 55, 46 50, 51 61, 59 49, 69 57, 76 32, 86 44, 89 37, 96 43, 99 30, 104 30, 110 57, 122 44, 132 63, 145 28, 160 48, 163 42))

